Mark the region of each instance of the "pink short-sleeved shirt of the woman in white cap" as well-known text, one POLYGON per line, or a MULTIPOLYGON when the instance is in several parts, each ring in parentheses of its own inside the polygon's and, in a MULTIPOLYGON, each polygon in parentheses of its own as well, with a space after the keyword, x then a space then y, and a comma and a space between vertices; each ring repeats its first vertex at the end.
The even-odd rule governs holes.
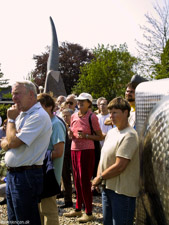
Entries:
MULTIPOLYGON (((71 130, 73 132, 71 150, 85 150, 94 149, 94 142, 89 139, 78 138, 78 131, 82 131, 86 134, 91 134, 89 115, 91 112, 87 112, 84 116, 79 117, 78 112, 71 116, 71 130)), ((100 130, 97 116, 92 113, 91 116, 92 127, 94 131, 100 130)))

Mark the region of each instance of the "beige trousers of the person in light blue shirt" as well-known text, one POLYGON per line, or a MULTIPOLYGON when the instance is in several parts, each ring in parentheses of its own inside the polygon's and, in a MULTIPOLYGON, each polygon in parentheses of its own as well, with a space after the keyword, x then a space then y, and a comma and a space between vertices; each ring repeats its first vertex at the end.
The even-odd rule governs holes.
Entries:
POLYGON ((59 225, 56 196, 42 199, 39 211, 42 225, 59 225))

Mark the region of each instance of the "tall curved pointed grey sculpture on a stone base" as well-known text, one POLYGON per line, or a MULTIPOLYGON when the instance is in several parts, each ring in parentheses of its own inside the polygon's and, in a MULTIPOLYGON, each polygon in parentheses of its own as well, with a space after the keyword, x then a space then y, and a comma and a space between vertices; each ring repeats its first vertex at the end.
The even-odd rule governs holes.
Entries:
POLYGON ((53 96, 58 97, 59 95, 66 96, 65 85, 63 83, 59 68, 59 48, 58 39, 56 34, 55 25, 52 18, 50 17, 50 23, 52 28, 52 44, 50 48, 48 63, 47 63, 47 74, 44 87, 44 93, 53 93, 53 96))

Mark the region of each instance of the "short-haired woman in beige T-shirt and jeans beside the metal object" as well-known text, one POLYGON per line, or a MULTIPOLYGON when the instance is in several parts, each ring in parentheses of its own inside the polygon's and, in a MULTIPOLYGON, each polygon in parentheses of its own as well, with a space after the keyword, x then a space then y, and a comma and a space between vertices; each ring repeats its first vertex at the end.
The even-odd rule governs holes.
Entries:
POLYGON ((116 127, 106 135, 92 185, 103 186, 104 225, 133 225, 139 192, 138 136, 128 123, 130 105, 125 99, 113 99, 108 109, 116 127))

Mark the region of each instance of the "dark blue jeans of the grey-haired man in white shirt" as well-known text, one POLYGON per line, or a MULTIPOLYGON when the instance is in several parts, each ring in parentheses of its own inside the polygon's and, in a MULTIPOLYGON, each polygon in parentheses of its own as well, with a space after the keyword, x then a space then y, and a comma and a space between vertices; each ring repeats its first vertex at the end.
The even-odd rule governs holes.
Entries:
POLYGON ((42 189, 41 168, 8 172, 6 194, 9 224, 41 225, 38 202, 42 189))

